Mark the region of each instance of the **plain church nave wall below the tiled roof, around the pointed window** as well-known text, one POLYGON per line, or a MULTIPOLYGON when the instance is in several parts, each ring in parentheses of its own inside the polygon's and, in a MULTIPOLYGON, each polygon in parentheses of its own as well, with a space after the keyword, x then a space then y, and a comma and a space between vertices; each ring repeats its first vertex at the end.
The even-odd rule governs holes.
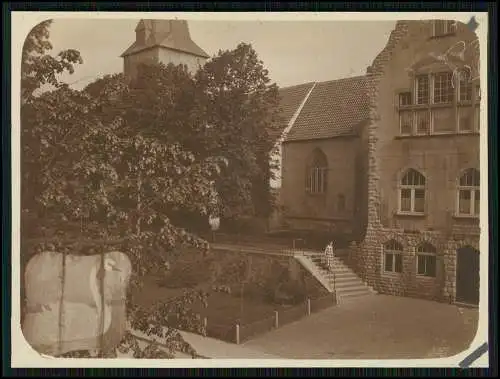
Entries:
POLYGON ((286 142, 283 144, 282 202, 290 229, 323 230, 351 234, 356 229, 356 163, 359 137, 286 142), (328 186, 324 194, 306 192, 306 167, 315 149, 328 161, 328 186), (345 197, 339 210, 338 196, 345 197))

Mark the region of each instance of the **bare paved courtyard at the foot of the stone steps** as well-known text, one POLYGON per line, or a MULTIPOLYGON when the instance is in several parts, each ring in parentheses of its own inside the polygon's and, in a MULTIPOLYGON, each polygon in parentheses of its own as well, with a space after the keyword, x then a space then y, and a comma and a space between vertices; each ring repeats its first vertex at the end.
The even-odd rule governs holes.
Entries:
POLYGON ((410 359, 467 349, 477 309, 373 295, 328 308, 243 346, 292 359, 410 359))

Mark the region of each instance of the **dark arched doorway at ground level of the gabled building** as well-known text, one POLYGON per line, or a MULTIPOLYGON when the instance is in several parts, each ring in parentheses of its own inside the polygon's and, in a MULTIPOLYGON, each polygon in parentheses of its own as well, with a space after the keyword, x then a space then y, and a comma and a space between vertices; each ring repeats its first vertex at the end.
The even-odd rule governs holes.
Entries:
POLYGON ((467 246, 457 250, 456 301, 479 304, 479 251, 467 246))

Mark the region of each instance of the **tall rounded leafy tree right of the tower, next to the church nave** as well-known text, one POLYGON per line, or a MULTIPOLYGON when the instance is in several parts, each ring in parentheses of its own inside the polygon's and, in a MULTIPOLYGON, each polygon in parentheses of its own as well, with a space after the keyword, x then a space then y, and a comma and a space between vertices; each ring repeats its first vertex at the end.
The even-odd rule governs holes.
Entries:
POLYGON ((206 154, 228 161, 217 181, 223 217, 267 216, 272 207, 269 155, 278 125, 278 91, 251 45, 219 51, 197 73, 206 96, 206 154))

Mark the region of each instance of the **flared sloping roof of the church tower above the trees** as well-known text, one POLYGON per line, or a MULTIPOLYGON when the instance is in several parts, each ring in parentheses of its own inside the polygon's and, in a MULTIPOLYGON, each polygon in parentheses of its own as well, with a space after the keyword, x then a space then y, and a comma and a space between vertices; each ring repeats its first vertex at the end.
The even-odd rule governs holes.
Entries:
POLYGON ((202 58, 209 55, 191 39, 186 20, 140 20, 136 32, 145 29, 144 40, 136 41, 121 55, 136 54, 152 47, 182 51, 202 58))

